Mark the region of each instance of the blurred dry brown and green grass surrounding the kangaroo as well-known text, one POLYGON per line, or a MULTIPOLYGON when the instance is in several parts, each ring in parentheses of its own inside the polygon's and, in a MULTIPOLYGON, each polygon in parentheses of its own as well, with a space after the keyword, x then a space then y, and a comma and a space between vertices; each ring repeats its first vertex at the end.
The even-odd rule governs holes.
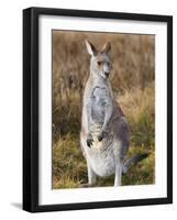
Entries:
MULTIPOLYGON (((128 157, 148 157, 123 176, 123 185, 154 184, 155 168, 155 36, 53 31, 53 188, 87 183, 79 144, 82 92, 89 76, 85 40, 97 48, 111 43, 110 81, 131 128, 128 157)), ((112 186, 113 176, 98 186, 112 186)))

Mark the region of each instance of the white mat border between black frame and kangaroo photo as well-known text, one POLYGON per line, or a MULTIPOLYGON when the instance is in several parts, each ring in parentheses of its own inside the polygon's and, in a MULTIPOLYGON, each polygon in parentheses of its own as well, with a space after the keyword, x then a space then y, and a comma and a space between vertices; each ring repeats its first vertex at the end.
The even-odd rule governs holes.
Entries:
MULTIPOLYGON (((40 16, 40 205, 167 196, 167 24, 109 19, 40 16), (155 185, 52 190, 52 30, 155 34, 155 185)), ((79 132, 79 131, 78 131, 79 132)))

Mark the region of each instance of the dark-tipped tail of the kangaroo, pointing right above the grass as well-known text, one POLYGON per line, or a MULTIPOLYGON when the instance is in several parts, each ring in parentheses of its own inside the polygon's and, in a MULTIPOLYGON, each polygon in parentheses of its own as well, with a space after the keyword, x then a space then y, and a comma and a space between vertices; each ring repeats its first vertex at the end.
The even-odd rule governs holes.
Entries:
POLYGON ((122 167, 122 174, 126 174, 126 172, 129 170, 129 168, 132 165, 135 165, 136 163, 141 162, 142 160, 146 158, 147 156, 148 156, 148 154, 135 154, 131 158, 126 160, 122 167))

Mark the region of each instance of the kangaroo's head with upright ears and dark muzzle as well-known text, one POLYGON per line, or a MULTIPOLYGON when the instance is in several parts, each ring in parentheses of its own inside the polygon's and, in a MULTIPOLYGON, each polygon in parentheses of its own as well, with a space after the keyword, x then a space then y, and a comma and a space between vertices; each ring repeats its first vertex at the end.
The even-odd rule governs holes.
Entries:
POLYGON ((109 52, 111 44, 108 42, 101 50, 97 50, 90 42, 86 40, 86 46, 90 58, 90 72, 93 75, 101 76, 107 79, 111 70, 111 61, 109 52))

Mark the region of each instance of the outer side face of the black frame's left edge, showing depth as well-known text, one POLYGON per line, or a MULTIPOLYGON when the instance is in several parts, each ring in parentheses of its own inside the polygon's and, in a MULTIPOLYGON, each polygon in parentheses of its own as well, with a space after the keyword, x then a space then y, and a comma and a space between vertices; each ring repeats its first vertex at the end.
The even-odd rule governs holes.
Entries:
POLYGON ((31 10, 23 10, 23 209, 31 211, 31 10))

